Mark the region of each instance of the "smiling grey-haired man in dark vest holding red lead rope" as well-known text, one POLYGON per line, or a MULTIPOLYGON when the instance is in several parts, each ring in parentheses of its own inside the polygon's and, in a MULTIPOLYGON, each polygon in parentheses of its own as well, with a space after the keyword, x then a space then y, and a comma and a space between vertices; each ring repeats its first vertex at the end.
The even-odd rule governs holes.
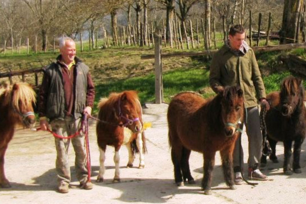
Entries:
MULTIPOLYGON (((59 48, 60 55, 57 61, 44 68, 39 91, 38 112, 42 130, 47 130, 48 118, 52 131, 65 137, 77 132, 83 114, 90 116, 94 104, 95 87, 88 66, 76 57, 76 46, 73 39, 62 38, 59 48)), ((68 193, 71 181, 68 161, 70 140, 76 155, 77 179, 84 189, 92 189, 92 183, 87 182, 88 169, 86 168, 84 136, 80 134, 72 139, 55 138, 57 152, 55 166, 60 193, 68 193)))

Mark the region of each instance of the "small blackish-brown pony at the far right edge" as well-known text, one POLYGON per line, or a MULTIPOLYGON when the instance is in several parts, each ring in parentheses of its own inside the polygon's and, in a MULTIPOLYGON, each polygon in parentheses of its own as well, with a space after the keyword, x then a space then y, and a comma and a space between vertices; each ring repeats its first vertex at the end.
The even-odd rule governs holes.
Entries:
MULTIPOLYGON (((293 171, 301 173, 300 152, 306 134, 306 108, 303 99, 302 80, 289 76, 283 80, 280 91, 267 95, 270 109, 266 111, 263 107, 261 110, 264 118, 262 131, 267 133, 267 139, 272 150, 270 159, 274 163, 278 163, 275 153, 276 143, 277 141, 284 143, 283 171, 286 175, 293 173, 290 168, 293 141, 293 171)), ((264 166, 266 163, 267 155, 262 155, 261 164, 264 166)))

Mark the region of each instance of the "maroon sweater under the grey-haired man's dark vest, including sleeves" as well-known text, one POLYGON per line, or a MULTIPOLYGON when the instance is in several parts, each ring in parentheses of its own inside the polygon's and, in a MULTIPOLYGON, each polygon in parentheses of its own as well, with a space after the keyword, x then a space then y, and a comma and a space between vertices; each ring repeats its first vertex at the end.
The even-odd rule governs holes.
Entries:
MULTIPOLYGON (((62 76, 63 76, 63 86, 64 86, 64 95, 65 95, 65 114, 71 115, 74 113, 74 100, 75 100, 75 83, 76 83, 76 69, 75 65, 73 65, 70 70, 63 64, 59 56, 57 63, 62 67, 62 76)), ((77 61, 77 59, 76 59, 77 61)), ((44 75, 45 76, 45 75, 44 75)), ((44 77, 39 95, 47 94, 48 88, 50 84, 50 79, 48 77, 44 77)), ((45 102, 44 100, 39 100, 39 117, 45 116, 45 102)), ((87 95, 86 95, 86 106, 93 107, 95 99, 95 86, 91 79, 91 74, 88 72, 87 74, 87 95)))

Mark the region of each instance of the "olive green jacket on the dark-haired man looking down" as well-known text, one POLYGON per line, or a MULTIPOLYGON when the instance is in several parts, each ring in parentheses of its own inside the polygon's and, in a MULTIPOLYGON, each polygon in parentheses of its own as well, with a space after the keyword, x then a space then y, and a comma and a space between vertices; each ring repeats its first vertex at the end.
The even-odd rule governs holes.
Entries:
POLYGON ((266 98, 263 80, 251 48, 246 54, 237 56, 226 45, 222 46, 212 59, 209 83, 216 93, 224 86, 240 85, 247 108, 257 106, 257 99, 266 98))

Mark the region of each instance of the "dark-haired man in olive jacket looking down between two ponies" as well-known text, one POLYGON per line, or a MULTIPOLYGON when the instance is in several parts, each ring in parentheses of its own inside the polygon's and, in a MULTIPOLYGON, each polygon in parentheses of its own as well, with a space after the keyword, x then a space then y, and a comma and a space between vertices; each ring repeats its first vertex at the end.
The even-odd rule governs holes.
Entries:
MULTIPOLYGON (((216 92, 223 90, 224 86, 240 85, 244 93, 244 105, 247 121, 244 120, 248 135, 248 177, 254 180, 267 180, 268 177, 259 170, 259 161, 262 151, 262 134, 258 101, 265 104, 266 93, 263 80, 258 68, 254 51, 244 41, 245 32, 241 25, 230 28, 229 39, 225 45, 214 55, 210 66, 209 82, 216 92)), ((243 158, 243 151, 241 152, 243 158)), ((235 144, 233 153, 234 181, 242 184, 242 176, 239 164, 239 140, 235 144)))

